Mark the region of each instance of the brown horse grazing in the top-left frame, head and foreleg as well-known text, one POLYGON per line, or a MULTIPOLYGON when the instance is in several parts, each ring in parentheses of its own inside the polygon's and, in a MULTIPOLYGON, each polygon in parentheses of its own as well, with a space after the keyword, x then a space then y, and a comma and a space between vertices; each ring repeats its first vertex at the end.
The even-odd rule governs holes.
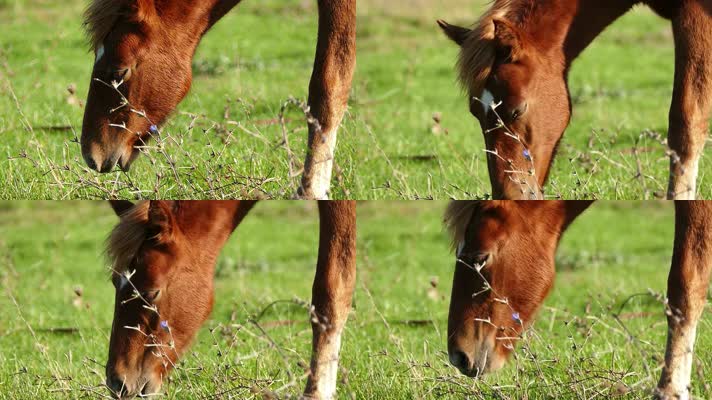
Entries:
MULTIPOLYGON (((188 93, 202 36, 240 0, 92 0, 86 26, 95 52, 82 124, 87 165, 125 171, 137 146, 188 93)), ((298 194, 328 197, 336 131, 356 61, 356 0, 319 0, 319 30, 309 85, 309 142, 298 194)))

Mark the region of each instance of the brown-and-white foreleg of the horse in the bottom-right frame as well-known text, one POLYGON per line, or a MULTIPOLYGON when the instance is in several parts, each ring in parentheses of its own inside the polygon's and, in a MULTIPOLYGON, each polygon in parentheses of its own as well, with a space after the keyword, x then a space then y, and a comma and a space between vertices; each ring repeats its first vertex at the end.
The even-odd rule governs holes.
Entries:
POLYGON ((712 202, 675 202, 668 277, 668 337, 656 398, 689 399, 693 346, 712 269, 712 202))

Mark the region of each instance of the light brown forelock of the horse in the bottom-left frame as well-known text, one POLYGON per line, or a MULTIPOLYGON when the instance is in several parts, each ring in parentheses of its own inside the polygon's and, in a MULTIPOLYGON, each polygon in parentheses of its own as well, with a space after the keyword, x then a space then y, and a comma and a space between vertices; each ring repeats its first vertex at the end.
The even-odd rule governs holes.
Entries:
POLYGON ((148 237, 148 201, 136 203, 121 215, 121 220, 106 239, 106 256, 114 272, 127 271, 139 248, 148 237))

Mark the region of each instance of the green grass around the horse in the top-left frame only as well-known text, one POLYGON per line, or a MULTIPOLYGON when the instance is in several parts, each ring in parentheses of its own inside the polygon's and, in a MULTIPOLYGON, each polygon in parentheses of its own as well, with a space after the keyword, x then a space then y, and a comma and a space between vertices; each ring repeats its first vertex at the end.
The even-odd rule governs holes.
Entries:
MULTIPOLYGON (((83 115, 78 103, 86 97, 93 54, 81 27, 83 3, 0 6, 0 17, 12 21, 0 28, 0 180, 7 182, 1 197, 292 197, 299 177, 289 177, 279 116, 290 97, 307 96, 314 6, 246 2, 206 36, 193 61, 193 90, 164 129, 181 143, 166 142, 176 178, 160 154, 152 155, 153 162, 141 157, 128 175, 99 176, 85 168, 76 141, 83 115), (67 91, 70 85, 75 96, 67 91)), ((288 106, 284 117, 299 170, 306 120, 295 106, 288 106)), ((353 129, 347 117, 334 198, 346 197, 353 186, 353 129)))

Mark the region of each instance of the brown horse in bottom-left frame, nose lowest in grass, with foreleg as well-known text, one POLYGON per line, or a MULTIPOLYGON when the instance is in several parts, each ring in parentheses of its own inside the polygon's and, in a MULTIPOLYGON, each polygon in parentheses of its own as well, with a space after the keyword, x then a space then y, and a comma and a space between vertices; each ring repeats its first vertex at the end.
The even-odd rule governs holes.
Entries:
MULTIPOLYGON (((254 201, 113 202, 107 241, 116 288, 106 386, 114 397, 157 393, 213 305, 221 248, 254 201)), ((341 332, 356 278, 356 205, 319 202, 312 360, 304 395, 336 392, 341 332)))

